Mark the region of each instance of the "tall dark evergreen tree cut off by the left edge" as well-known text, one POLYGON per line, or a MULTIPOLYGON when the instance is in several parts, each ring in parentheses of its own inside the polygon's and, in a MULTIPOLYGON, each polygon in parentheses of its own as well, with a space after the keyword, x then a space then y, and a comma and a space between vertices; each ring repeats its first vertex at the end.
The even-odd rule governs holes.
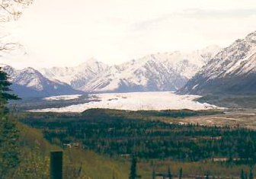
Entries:
POLYGON ((18 97, 10 94, 8 75, 0 68, 0 179, 8 177, 19 165, 18 129, 6 104, 18 97))

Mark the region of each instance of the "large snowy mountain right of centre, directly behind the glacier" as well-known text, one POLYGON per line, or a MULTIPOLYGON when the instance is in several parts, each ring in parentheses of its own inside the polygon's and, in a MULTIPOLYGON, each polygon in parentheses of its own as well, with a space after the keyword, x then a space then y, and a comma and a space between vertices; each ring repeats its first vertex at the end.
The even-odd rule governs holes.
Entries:
POLYGON ((177 91, 219 51, 209 46, 193 53, 157 53, 132 60, 120 66, 110 66, 88 82, 82 91, 177 91))

